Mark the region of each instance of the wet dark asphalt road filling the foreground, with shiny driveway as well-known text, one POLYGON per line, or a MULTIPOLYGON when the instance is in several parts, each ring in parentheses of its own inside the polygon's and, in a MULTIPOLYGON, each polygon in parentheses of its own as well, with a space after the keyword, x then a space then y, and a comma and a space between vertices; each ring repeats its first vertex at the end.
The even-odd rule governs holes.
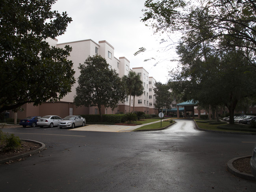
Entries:
POLYGON ((4 129, 46 144, 24 161, 0 165, 1 192, 255 192, 226 163, 250 155, 255 135, 198 131, 192 120, 162 131, 4 129))

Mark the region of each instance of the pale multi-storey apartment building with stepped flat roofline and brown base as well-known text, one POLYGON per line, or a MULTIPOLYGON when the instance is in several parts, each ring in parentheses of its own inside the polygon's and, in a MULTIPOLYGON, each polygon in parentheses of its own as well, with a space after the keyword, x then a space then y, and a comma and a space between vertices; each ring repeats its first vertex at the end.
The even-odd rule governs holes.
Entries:
MULTIPOLYGON (((126 57, 115 57, 115 49, 107 41, 99 41, 98 43, 91 40, 81 40, 73 42, 59 43, 57 39, 47 39, 50 46, 55 46, 58 48, 65 48, 66 45, 72 47, 72 52, 70 53, 69 60, 73 62, 73 68, 75 71, 74 77, 78 79, 80 76, 80 70, 78 66, 80 63, 84 63, 87 57, 99 54, 104 57, 112 69, 115 69, 119 77, 122 78, 124 75, 128 75, 130 69, 130 61, 126 57)), ((133 68, 137 73, 141 73, 141 80, 144 83, 145 94, 141 98, 135 98, 135 111, 144 111, 146 114, 152 114, 153 112, 153 100, 152 106, 149 105, 149 76, 148 72, 142 68, 133 68)), ((152 78, 152 77, 151 77, 152 78)), ((154 79, 154 78, 152 78, 154 79)), ((155 79, 153 80, 156 81, 155 79)), ((26 118, 27 116, 45 116, 45 115, 58 115, 64 118, 67 115, 72 114, 98 114, 97 107, 76 107, 73 104, 74 96, 76 95, 76 87, 78 87, 78 81, 73 85, 71 92, 67 94, 59 102, 45 102, 39 106, 33 106, 32 103, 26 103, 22 106, 23 112, 18 112, 18 118, 26 118)), ((133 98, 132 98, 133 99, 133 98)), ((129 111, 129 96, 126 98, 125 102, 119 102, 119 106, 113 111, 110 108, 102 109, 102 114, 115 114, 118 112, 126 113, 129 111)), ((131 102, 131 108, 133 107, 133 102, 131 102)), ((10 114, 13 116, 12 114, 10 114)))

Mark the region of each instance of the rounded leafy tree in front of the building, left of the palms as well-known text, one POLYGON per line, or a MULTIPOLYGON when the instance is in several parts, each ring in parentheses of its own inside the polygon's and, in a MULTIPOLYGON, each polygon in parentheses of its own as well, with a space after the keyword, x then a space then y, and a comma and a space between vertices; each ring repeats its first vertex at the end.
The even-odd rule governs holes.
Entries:
POLYGON ((74 104, 76 106, 97 106, 102 120, 101 108, 117 107, 126 97, 125 85, 115 70, 100 55, 89 56, 79 64, 80 76, 74 104))

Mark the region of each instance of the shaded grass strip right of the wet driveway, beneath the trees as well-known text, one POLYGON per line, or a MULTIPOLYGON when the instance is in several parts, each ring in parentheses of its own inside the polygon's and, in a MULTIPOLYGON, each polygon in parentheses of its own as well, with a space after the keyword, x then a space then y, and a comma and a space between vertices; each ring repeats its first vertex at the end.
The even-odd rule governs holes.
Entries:
POLYGON ((200 129, 206 129, 206 130, 212 130, 212 131, 224 131, 224 132, 234 132, 234 133, 255 133, 254 131, 250 131, 249 126, 246 125, 241 125, 241 124, 209 124, 209 123, 202 123, 202 122, 207 122, 207 120, 195 120, 195 122, 197 123, 198 127, 200 129), (223 129, 217 128, 218 126, 223 127, 223 129))

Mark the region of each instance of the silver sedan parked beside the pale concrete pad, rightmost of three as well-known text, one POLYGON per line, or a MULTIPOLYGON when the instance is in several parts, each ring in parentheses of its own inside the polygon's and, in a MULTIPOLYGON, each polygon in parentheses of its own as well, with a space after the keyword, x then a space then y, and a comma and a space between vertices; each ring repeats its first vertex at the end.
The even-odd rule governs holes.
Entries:
POLYGON ((76 127, 76 126, 85 126, 86 120, 82 116, 79 115, 70 115, 63 118, 58 123, 59 128, 67 128, 67 127, 76 127))

